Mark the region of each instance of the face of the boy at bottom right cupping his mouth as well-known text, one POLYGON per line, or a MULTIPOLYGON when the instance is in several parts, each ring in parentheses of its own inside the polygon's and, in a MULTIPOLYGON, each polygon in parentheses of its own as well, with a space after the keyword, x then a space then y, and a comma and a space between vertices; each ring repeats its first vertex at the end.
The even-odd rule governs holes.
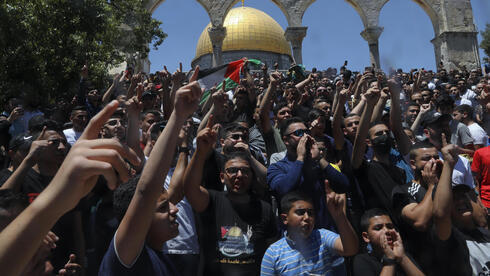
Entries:
POLYGON ((376 251, 382 251, 383 245, 381 237, 386 236, 388 245, 393 247, 393 242, 396 240, 395 225, 387 215, 374 216, 369 219, 369 227, 367 232, 362 232, 362 238, 366 243, 376 251))

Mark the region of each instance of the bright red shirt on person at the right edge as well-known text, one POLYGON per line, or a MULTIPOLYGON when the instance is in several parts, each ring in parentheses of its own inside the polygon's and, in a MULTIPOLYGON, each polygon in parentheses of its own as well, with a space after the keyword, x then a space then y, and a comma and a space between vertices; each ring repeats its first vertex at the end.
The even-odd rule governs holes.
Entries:
POLYGON ((481 201, 485 207, 490 208, 490 146, 475 151, 471 171, 480 176, 481 201))

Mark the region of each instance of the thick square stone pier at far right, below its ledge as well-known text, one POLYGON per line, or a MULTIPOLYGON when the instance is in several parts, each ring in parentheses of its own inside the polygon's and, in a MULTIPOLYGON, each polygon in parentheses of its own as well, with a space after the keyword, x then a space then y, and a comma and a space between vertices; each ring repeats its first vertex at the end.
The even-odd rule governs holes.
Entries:
POLYGON ((434 44, 436 68, 442 61, 446 70, 479 68, 477 32, 443 32, 431 40, 434 44))

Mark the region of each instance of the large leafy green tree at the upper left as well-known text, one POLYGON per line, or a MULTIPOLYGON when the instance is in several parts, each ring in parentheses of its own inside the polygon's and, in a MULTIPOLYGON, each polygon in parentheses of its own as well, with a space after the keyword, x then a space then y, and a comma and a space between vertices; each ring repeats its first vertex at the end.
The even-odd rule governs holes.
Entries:
POLYGON ((80 68, 103 87, 127 55, 146 57, 167 36, 147 0, 6 0, 0 4, 0 100, 35 93, 69 99, 80 68))

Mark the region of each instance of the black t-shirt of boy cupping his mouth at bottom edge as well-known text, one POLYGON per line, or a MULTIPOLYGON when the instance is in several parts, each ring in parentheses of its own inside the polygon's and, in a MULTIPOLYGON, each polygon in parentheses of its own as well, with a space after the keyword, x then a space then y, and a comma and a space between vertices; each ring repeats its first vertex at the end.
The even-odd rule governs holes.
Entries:
MULTIPOLYGON (((407 255, 407 257, 410 258, 412 262, 414 262, 411 256, 407 255)), ((381 259, 376 258, 372 254, 364 253, 354 256, 354 260, 352 262, 353 276, 378 276, 381 273, 382 269, 383 264, 381 264, 381 259)), ((395 275, 406 275, 399 264, 396 264, 395 275)))

